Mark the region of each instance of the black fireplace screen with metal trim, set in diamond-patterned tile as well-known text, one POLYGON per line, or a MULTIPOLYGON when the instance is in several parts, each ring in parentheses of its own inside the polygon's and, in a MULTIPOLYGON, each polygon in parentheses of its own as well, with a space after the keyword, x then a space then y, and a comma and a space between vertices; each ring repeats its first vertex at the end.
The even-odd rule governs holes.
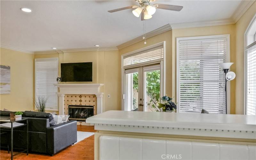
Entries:
POLYGON ((70 120, 85 121, 93 116, 93 106, 68 105, 68 115, 70 120))

